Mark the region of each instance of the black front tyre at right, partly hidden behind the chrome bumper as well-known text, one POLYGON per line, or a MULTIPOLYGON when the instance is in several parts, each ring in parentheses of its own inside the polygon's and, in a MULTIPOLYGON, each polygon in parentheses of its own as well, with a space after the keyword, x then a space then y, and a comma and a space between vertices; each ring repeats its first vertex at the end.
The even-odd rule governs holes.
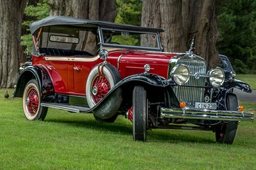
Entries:
MULTIPOLYGON (((235 94, 228 94, 226 98, 228 111, 238 111, 238 98, 235 94)), ((221 123, 215 127, 216 142, 233 144, 238 130, 238 121, 221 123)))

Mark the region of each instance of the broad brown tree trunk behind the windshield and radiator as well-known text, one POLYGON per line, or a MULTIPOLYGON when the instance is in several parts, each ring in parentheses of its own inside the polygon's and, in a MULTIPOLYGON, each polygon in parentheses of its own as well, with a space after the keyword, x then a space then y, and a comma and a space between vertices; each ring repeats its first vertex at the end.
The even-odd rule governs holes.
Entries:
POLYGON ((142 26, 165 30, 161 34, 165 51, 185 52, 196 38, 194 52, 206 59, 208 67, 218 63, 214 0, 144 0, 142 26))

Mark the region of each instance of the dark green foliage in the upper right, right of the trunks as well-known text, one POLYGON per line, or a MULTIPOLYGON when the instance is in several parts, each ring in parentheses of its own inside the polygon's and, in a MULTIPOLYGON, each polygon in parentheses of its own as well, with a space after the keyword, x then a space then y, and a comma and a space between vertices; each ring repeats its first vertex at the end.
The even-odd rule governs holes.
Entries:
POLYGON ((218 51, 231 58, 236 72, 256 72, 256 1, 230 0, 217 8, 218 51))

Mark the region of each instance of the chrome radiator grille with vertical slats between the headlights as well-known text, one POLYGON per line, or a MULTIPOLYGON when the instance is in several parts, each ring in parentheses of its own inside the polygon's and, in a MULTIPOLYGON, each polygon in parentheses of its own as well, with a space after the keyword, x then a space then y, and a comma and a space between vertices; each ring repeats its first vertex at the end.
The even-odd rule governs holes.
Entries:
MULTIPOLYGON (((187 106, 194 107, 195 102, 204 101, 204 86, 206 83, 206 63, 200 60, 180 59, 176 64, 185 64, 190 69, 191 77, 184 86, 175 86, 174 93, 178 101, 185 101, 187 106), (195 74, 200 74, 201 77, 196 79, 195 74)), ((197 77, 198 78, 198 77, 197 77)))

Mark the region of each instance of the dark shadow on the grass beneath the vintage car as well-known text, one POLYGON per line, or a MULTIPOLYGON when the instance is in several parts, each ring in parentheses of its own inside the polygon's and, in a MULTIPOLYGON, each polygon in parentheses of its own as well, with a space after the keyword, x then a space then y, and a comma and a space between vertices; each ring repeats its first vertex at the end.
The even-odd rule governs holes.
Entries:
MULTIPOLYGON (((107 131, 107 132, 117 132, 121 135, 131 135, 132 136, 132 125, 125 125, 124 123, 101 123, 96 120, 63 120, 63 119, 50 119, 46 120, 50 123, 65 123, 72 126, 77 126, 81 128, 90 128, 97 131, 107 131)), ((176 130, 179 132, 180 130, 176 130)), ((184 130, 182 130, 184 132, 184 130)), ((179 143, 179 142, 195 142, 202 144, 213 144, 215 141, 210 140, 205 135, 198 136, 194 135, 196 132, 190 130, 191 134, 175 133, 171 134, 173 130, 148 130, 146 142, 168 142, 168 143, 179 143)))

